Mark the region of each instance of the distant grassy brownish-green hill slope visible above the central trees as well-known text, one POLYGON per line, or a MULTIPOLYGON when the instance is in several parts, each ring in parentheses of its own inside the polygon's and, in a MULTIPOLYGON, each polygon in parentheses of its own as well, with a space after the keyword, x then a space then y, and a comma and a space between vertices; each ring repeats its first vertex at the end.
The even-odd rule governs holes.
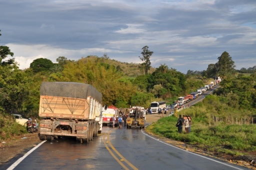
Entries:
MULTIPOLYGON (((86 59, 92 59, 92 60, 103 59, 104 63, 107 63, 109 65, 114 65, 115 67, 119 67, 120 71, 123 72, 123 74, 126 76, 138 76, 143 74, 143 72, 139 68, 139 64, 137 63, 120 62, 115 59, 98 57, 94 55, 87 56, 84 59, 85 60, 86 59)), ((151 67, 149 70, 149 73, 153 73, 154 71, 155 71, 155 68, 151 67)))

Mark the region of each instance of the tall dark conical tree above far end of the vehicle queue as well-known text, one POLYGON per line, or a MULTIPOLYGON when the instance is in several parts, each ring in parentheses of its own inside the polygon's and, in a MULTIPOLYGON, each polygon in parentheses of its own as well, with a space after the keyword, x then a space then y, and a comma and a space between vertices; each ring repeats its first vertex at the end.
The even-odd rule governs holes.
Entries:
POLYGON ((235 73, 234 61, 232 60, 231 56, 226 51, 224 51, 221 54, 221 56, 218 57, 217 67, 218 67, 217 73, 222 78, 228 77, 235 73))

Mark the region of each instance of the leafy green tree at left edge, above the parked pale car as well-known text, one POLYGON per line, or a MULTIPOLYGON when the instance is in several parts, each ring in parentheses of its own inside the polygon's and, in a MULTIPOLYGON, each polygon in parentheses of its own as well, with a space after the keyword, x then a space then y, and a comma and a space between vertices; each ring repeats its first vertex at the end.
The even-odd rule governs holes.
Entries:
POLYGON ((29 111, 27 102, 31 101, 29 84, 32 79, 15 64, 0 66, 0 75, 0 110, 24 115, 29 111))

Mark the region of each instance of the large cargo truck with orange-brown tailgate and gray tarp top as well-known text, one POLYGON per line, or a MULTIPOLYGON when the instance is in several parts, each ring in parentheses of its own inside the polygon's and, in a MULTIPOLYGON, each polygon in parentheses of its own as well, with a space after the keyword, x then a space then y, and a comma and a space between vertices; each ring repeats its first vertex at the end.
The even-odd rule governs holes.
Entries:
POLYGON ((102 129, 102 94, 90 84, 42 82, 40 85, 40 139, 72 136, 92 140, 102 129))

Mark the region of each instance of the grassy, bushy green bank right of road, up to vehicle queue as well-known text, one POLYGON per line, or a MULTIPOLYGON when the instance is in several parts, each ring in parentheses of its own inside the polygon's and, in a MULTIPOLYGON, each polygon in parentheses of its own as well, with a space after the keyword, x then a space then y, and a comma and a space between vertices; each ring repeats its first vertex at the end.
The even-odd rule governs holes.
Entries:
POLYGON ((201 102, 180 110, 173 116, 160 118, 147 130, 194 147, 232 156, 256 151, 256 110, 239 109, 223 102, 215 94, 205 96, 201 102), (191 132, 178 133, 175 126, 178 115, 192 117, 191 132))

